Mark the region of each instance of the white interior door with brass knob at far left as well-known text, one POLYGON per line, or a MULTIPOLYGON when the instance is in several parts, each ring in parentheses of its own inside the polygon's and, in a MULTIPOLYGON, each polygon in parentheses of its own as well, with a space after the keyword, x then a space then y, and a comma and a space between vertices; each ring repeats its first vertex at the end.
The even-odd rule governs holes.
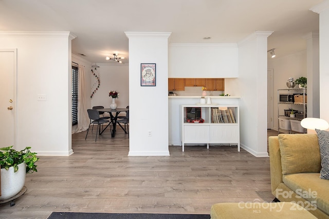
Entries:
POLYGON ((0 49, 0 147, 15 145, 16 50, 0 49))

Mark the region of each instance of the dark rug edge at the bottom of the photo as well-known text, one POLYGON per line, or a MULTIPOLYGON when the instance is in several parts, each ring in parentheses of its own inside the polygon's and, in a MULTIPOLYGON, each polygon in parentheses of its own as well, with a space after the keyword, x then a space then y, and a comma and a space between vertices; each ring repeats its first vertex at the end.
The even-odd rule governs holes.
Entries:
POLYGON ((48 219, 210 219, 209 214, 118 214, 118 213, 84 213, 52 212, 48 219))

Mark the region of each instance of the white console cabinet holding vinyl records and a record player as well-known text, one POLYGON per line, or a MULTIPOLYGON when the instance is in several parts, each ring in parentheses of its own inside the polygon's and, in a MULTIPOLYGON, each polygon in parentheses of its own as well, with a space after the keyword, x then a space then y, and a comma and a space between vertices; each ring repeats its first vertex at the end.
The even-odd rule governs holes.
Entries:
POLYGON ((239 106, 181 105, 180 142, 182 151, 185 144, 237 144, 240 151, 239 106))

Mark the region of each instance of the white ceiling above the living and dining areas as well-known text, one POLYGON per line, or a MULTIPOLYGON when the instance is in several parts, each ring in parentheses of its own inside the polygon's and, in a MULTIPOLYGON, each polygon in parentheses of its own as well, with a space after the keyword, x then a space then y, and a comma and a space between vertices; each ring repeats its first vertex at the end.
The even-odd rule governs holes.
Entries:
MULTIPOLYGON (((124 32, 172 32, 170 43, 237 43, 254 31, 274 31, 277 57, 306 49, 319 31, 309 9, 322 0, 0 0, 1 31, 70 31, 72 53, 92 63, 129 57, 124 32), (211 39, 203 39, 211 37, 211 39)), ((124 59, 127 63, 129 59, 124 59)))

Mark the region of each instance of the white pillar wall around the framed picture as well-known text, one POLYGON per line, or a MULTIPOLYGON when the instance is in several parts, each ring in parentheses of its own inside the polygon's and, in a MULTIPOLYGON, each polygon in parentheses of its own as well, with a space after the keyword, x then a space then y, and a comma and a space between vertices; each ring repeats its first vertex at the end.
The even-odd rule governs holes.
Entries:
POLYGON ((129 38, 130 156, 169 155, 168 37, 126 33, 129 38), (140 64, 156 64, 156 86, 140 86, 140 64), (148 136, 149 131, 152 136, 148 136))

